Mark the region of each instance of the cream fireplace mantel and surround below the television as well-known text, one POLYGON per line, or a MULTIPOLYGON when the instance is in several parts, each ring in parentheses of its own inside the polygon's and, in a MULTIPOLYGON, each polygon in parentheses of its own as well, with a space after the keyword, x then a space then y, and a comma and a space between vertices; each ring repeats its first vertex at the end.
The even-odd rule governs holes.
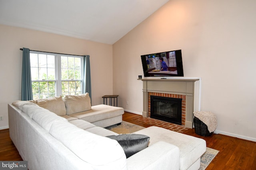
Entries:
POLYGON ((193 127, 194 84, 199 77, 145 77, 143 81, 143 117, 148 117, 148 92, 186 95, 185 127, 193 127))

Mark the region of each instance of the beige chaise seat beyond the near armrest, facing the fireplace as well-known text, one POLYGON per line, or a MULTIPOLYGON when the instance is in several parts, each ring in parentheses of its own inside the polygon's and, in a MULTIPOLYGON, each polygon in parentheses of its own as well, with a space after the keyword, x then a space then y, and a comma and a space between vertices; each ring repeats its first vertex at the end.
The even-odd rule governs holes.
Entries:
POLYGON ((180 170, 198 170, 200 168, 200 157, 206 151, 206 141, 203 139, 156 126, 151 126, 134 133, 149 136, 149 146, 158 141, 176 145, 180 149, 180 170))

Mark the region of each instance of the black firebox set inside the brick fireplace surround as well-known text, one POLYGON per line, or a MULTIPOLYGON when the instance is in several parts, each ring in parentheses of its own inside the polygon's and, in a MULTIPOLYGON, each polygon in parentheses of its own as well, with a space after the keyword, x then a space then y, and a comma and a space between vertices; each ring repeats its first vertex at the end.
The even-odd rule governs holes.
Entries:
POLYGON ((181 125, 182 99, 150 96, 150 117, 181 125))

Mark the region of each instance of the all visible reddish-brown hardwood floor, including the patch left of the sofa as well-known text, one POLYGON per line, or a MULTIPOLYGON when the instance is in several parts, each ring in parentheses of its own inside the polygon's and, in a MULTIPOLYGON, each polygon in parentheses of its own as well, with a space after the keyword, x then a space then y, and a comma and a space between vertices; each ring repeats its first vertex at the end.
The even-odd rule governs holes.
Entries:
MULTIPOLYGON (((141 115, 125 112, 123 120, 149 127, 150 125, 137 121, 141 115)), ((194 129, 188 129, 184 134, 202 138, 206 146, 220 152, 206 170, 256 170, 256 143, 220 134, 210 137, 196 135, 194 129)), ((9 129, 0 130, 0 160, 22 160, 18 150, 9 137, 9 129)))

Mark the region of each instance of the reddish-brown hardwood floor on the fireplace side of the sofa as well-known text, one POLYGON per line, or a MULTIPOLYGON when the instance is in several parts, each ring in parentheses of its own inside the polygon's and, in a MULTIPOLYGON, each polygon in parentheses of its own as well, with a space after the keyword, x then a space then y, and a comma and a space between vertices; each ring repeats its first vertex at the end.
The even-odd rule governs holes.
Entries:
MULTIPOLYGON (((140 117, 141 115, 125 112, 123 121, 148 127, 149 125, 137 121, 140 117)), ((256 170, 255 142, 221 134, 202 137, 197 135, 194 129, 188 129, 184 134, 202 138, 207 147, 220 151, 206 170, 256 170)))

